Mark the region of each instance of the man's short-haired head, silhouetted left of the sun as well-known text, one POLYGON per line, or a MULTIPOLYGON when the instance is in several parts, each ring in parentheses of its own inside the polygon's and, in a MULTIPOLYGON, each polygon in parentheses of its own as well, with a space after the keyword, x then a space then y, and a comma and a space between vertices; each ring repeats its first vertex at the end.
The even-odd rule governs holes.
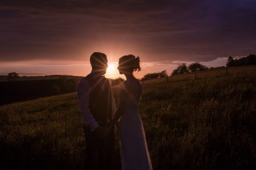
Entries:
POLYGON ((94 72, 104 75, 108 67, 108 59, 106 58, 106 54, 94 52, 90 56, 90 65, 92 65, 92 70, 94 72))

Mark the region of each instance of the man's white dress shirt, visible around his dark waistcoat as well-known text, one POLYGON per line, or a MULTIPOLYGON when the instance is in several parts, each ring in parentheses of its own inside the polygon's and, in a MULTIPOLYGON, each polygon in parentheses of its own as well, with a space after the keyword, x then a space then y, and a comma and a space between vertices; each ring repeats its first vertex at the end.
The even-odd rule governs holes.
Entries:
MULTIPOLYGON (((93 73, 90 73, 90 75, 93 76, 93 73)), ((102 91, 104 90, 105 86, 103 81, 98 84, 102 91)), ((77 85, 77 96, 79 99, 79 106, 80 106, 80 112, 82 114, 82 122, 85 126, 90 126, 90 130, 96 129, 99 125, 98 122, 94 119, 92 113, 90 112, 89 109, 89 101, 90 101, 90 84, 86 79, 81 79, 79 84, 77 85)), ((114 95, 113 91, 111 88, 111 104, 112 104, 112 117, 114 117, 114 113, 116 108, 115 105, 115 100, 114 100, 114 95)))

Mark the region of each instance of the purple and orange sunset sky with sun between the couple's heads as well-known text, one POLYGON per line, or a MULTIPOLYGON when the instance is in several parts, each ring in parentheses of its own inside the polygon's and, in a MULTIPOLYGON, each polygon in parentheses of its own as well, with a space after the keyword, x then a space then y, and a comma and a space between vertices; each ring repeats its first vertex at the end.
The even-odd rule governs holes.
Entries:
POLYGON ((1 0, 0 74, 90 73, 93 52, 141 57, 144 74, 256 54, 256 0, 1 0))

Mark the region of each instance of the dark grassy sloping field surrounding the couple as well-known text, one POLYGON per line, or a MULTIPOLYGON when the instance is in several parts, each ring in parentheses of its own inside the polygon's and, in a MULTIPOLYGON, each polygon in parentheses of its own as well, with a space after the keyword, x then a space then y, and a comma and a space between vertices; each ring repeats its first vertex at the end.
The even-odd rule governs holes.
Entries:
MULTIPOLYGON (((139 110, 154 169, 255 169, 256 67, 228 71, 144 82, 139 110)), ((76 93, 0 107, 0 169, 84 169, 85 150, 76 93)))

